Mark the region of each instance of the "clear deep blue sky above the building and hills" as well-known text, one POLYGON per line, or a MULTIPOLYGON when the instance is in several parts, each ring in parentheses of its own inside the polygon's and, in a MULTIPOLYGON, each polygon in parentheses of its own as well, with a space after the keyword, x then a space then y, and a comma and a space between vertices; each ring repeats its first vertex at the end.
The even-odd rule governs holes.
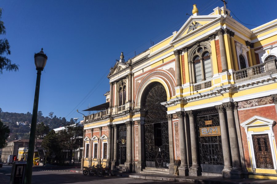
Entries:
MULTIPOLYGON (((127 60, 134 51, 138 54, 151 47, 150 40, 158 43, 178 31, 193 4, 201 15, 223 6, 220 0, 2 0, 6 35, 0 38, 9 40, 8 58, 20 67, 0 75, 0 107, 4 112, 32 113, 34 53, 43 47, 48 60, 42 71, 38 110, 44 116, 54 112, 67 120, 81 118, 77 109, 105 102, 106 76, 120 53, 127 60)), ((276 5, 272 0, 227 3, 240 21, 252 25, 276 19, 276 5)))

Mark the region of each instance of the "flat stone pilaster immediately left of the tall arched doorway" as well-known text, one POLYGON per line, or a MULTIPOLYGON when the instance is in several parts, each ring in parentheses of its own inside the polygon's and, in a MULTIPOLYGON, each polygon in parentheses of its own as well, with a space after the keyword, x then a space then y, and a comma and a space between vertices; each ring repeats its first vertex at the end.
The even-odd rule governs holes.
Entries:
POLYGON ((138 121, 138 141, 139 141, 139 161, 137 170, 142 171, 145 169, 146 163, 145 163, 145 155, 144 155, 144 120, 138 121))

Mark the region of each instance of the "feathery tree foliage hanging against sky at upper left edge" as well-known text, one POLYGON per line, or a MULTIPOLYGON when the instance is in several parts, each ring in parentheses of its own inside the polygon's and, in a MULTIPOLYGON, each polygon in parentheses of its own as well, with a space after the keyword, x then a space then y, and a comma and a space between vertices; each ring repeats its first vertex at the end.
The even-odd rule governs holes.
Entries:
MULTIPOLYGON (((0 8, 0 35, 6 34, 6 28, 2 18, 2 8, 0 8)), ((10 55, 10 44, 6 38, 0 39, 0 74, 3 70, 6 71, 17 71, 18 65, 11 64, 11 60, 6 58, 5 55, 10 55)))

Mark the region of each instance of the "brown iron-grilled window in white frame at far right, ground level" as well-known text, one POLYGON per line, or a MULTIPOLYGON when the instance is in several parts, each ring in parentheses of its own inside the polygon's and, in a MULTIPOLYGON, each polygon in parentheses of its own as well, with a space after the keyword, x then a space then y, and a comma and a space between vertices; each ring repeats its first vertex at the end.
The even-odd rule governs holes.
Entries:
POLYGON ((252 135, 256 167, 274 169, 268 134, 252 135))

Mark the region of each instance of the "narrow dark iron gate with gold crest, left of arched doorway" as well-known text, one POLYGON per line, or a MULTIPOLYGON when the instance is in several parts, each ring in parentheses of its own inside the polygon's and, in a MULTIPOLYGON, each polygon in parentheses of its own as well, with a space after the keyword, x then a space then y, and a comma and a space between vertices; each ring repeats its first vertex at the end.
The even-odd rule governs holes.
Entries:
POLYGON ((127 127, 126 125, 123 124, 118 127, 119 164, 124 164, 126 162, 126 138, 127 138, 127 127))

